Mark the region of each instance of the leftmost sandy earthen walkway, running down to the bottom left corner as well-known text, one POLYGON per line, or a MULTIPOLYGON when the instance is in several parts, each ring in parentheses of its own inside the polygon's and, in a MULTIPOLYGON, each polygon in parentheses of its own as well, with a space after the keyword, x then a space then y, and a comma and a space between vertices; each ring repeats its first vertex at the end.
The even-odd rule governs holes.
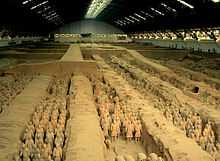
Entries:
POLYGON ((37 76, 19 94, 0 117, 0 161, 12 161, 18 142, 35 106, 47 94, 51 77, 37 76))

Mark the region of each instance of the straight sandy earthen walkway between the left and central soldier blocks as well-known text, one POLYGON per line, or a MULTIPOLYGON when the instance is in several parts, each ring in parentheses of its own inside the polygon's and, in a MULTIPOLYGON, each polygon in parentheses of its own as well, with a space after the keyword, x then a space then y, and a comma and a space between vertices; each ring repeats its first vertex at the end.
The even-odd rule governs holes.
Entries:
POLYGON ((70 87, 70 136, 66 161, 104 161, 104 138, 93 100, 92 86, 82 75, 70 87))

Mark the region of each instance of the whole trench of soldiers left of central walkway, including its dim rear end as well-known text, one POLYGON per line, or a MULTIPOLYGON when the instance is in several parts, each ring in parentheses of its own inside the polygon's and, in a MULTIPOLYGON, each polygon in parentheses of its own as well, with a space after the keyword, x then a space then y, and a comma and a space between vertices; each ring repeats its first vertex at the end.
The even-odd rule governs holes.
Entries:
POLYGON ((13 160, 65 160, 70 131, 69 87, 69 76, 50 81, 48 94, 36 105, 21 134, 13 160))

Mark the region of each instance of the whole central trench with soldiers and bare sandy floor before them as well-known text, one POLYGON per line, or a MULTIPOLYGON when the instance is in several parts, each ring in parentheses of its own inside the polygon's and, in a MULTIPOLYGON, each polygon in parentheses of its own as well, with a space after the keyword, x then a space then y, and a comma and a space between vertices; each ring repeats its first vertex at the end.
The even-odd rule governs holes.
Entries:
POLYGON ((93 94, 99 114, 100 127, 105 138, 105 160, 114 161, 115 158, 120 156, 124 158, 129 156, 138 160, 139 155, 145 155, 149 159, 154 155, 161 161, 166 160, 160 157, 162 156, 160 148, 141 123, 140 113, 137 110, 126 109, 125 100, 120 100, 116 90, 105 80, 93 78, 91 82, 93 84, 93 94), (128 134, 129 123, 127 118, 132 120, 130 123, 134 126, 132 128, 132 136, 128 134), (113 133, 115 133, 114 125, 116 124, 118 125, 118 130, 115 135, 113 133), (138 125, 140 125, 141 129, 136 128, 138 125), (141 131, 140 135, 137 134, 138 130, 141 131))

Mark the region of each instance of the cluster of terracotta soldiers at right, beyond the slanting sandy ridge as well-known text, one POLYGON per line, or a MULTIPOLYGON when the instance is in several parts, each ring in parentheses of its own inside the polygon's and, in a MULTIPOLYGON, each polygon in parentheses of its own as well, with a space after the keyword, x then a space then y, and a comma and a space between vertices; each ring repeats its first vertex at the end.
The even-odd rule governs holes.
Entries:
POLYGON ((194 139, 203 150, 213 155, 217 153, 216 137, 211 121, 203 122, 198 113, 181 111, 172 106, 164 110, 164 116, 183 130, 187 137, 194 139))

